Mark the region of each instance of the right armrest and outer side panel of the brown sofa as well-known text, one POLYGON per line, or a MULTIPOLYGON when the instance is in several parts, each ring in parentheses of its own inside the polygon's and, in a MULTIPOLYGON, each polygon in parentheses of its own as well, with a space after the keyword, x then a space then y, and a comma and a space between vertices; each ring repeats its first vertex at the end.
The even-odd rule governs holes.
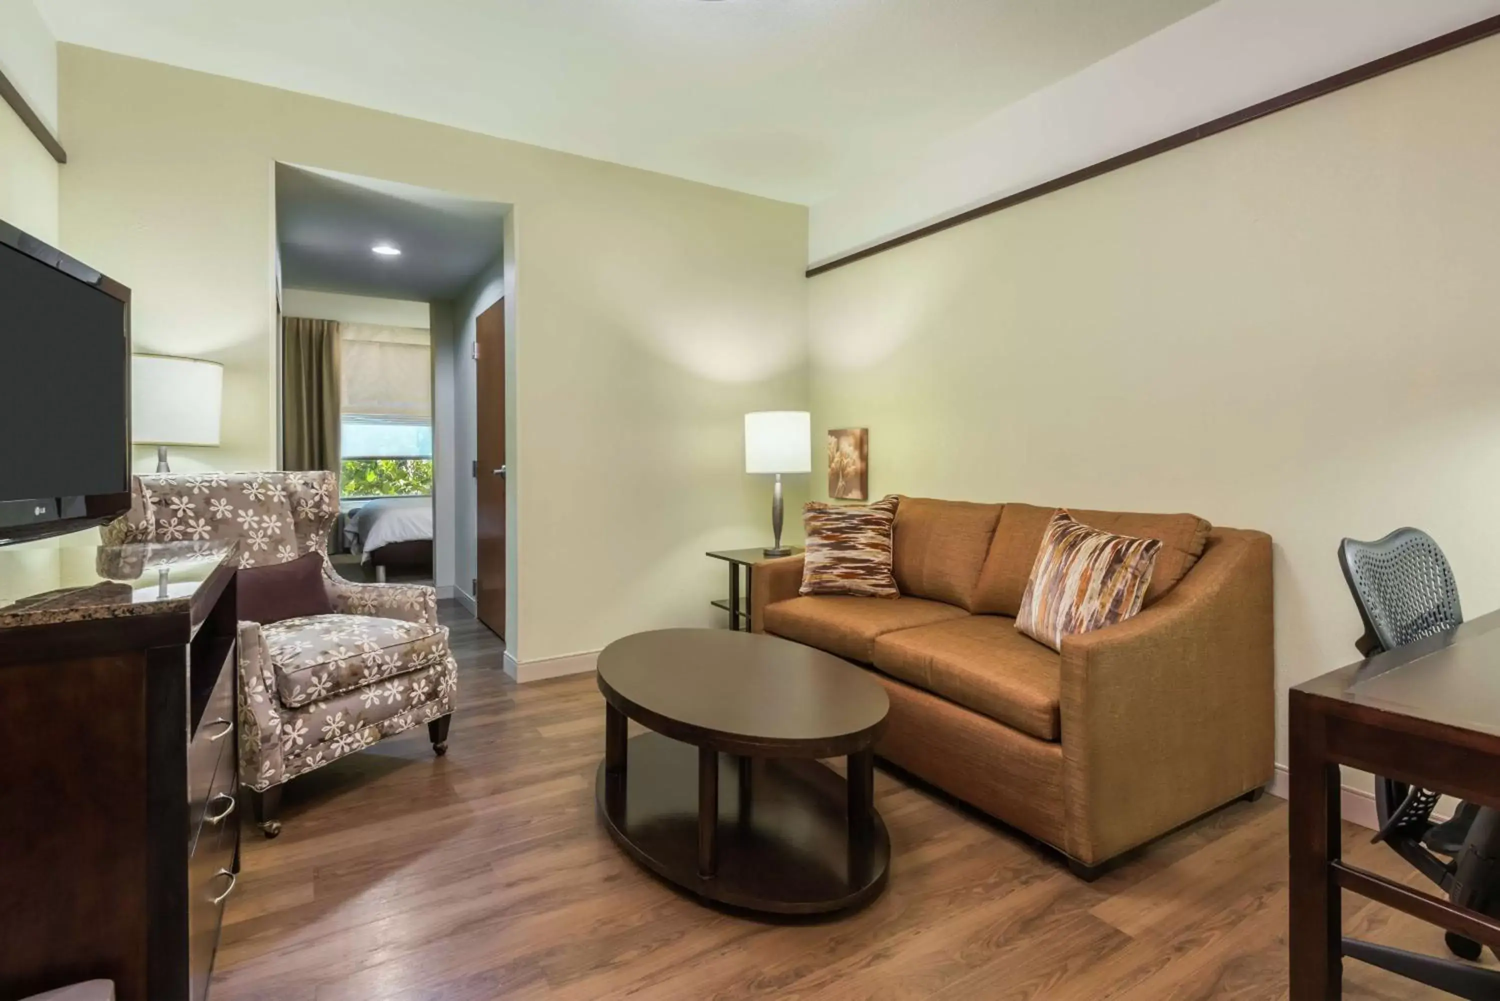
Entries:
POLYGON ((1160 602, 1062 642, 1068 854, 1096 864, 1270 780, 1270 536, 1215 530, 1160 602))

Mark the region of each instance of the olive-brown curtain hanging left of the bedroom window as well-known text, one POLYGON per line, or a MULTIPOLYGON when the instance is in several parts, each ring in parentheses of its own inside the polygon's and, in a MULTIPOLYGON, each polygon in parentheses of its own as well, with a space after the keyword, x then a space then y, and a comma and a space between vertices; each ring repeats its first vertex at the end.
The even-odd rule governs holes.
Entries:
POLYGON ((339 324, 282 317, 282 468, 339 471, 339 324))

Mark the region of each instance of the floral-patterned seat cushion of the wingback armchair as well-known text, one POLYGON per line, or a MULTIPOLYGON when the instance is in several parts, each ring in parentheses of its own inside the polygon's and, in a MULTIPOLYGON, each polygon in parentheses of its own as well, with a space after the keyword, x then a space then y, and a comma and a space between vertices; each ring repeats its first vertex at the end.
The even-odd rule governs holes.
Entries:
POLYGON ((372 615, 306 615, 264 627, 276 693, 288 708, 442 663, 447 629, 372 615))

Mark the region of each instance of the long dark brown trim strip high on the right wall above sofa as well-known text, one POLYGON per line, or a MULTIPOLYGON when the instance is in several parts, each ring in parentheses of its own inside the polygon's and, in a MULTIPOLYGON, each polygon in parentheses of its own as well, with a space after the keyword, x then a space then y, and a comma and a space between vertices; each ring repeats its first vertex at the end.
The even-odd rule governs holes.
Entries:
POLYGON ((855 251, 844 257, 834 258, 818 267, 807 269, 807 276, 814 278, 824 272, 831 272, 836 267, 843 267, 844 264, 854 264, 855 261, 862 261, 867 257, 874 257, 876 254, 884 254, 885 251, 898 248, 904 243, 912 243, 914 240, 921 240, 922 237, 933 236, 934 233, 942 233, 944 230, 951 230, 960 227, 964 222, 974 222, 975 219, 982 219, 984 216, 1002 212, 1012 206, 1018 206, 1023 201, 1030 201, 1032 198, 1041 198, 1042 195, 1050 195, 1054 191, 1062 191, 1064 188, 1071 188, 1077 183, 1100 177, 1101 174, 1108 174, 1122 167, 1130 167, 1131 164, 1138 164, 1140 161, 1150 159, 1168 150, 1174 150, 1188 143, 1197 143, 1198 140, 1206 140, 1210 135, 1218 135, 1220 132, 1227 132, 1234 126, 1245 125, 1246 122, 1254 122, 1256 119, 1263 119, 1268 114, 1275 114, 1276 111, 1284 111, 1287 108, 1296 107, 1305 101, 1312 101, 1314 98, 1322 98, 1323 95, 1330 95, 1335 90, 1342 90, 1353 84, 1372 80, 1382 74, 1389 74, 1392 69, 1401 69, 1402 66, 1410 66, 1412 63, 1419 63, 1424 59, 1431 59, 1432 56, 1442 56, 1470 42, 1478 42, 1482 38, 1490 38, 1491 35, 1500 33, 1500 15, 1492 18, 1485 18, 1484 21, 1476 21, 1468 27, 1458 29, 1456 32, 1449 32, 1448 35, 1440 35, 1434 39, 1422 42, 1420 45, 1413 45, 1412 48, 1404 48, 1400 53, 1392 53, 1390 56, 1382 56, 1377 60, 1364 63, 1362 66, 1354 66, 1353 69, 1346 69, 1341 74, 1334 74, 1318 80, 1317 83, 1306 84, 1305 87, 1298 87, 1296 90, 1288 90, 1284 95, 1262 101, 1260 104, 1252 104, 1248 108, 1240 108, 1239 111, 1232 111, 1222 117, 1214 119, 1203 125, 1194 126, 1178 132, 1176 135, 1168 135, 1164 140, 1156 140, 1155 143, 1148 143, 1128 153, 1120 153, 1119 156, 1112 156, 1106 161, 1100 161, 1092 167, 1084 167, 1076 170, 1071 174, 1064 174, 1048 182, 1042 182, 1035 188, 1028 188, 1026 191, 1018 191, 1014 195, 1005 195, 1004 198, 996 198, 982 206, 969 209, 948 219, 933 222, 920 230, 912 230, 910 233, 903 233, 902 236, 891 237, 876 243, 874 246, 867 246, 862 251, 855 251))

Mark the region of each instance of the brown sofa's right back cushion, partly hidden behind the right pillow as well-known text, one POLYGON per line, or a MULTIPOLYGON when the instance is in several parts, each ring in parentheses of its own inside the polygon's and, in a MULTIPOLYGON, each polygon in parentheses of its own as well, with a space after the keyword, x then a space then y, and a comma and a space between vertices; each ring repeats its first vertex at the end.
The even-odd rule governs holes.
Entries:
MULTIPOLYGON (((1036 551, 1041 549, 1042 534, 1056 512, 1056 507, 1005 504, 1000 522, 994 528, 994 542, 990 543, 990 554, 984 560, 980 582, 974 590, 974 608, 969 611, 993 615, 1020 612, 1026 581, 1030 579, 1032 566, 1036 563, 1036 551)), ((1092 528, 1118 536, 1161 540, 1144 606, 1150 606, 1186 576, 1203 555, 1212 528, 1197 515, 1137 515, 1074 507, 1068 512, 1076 521, 1092 528)))

